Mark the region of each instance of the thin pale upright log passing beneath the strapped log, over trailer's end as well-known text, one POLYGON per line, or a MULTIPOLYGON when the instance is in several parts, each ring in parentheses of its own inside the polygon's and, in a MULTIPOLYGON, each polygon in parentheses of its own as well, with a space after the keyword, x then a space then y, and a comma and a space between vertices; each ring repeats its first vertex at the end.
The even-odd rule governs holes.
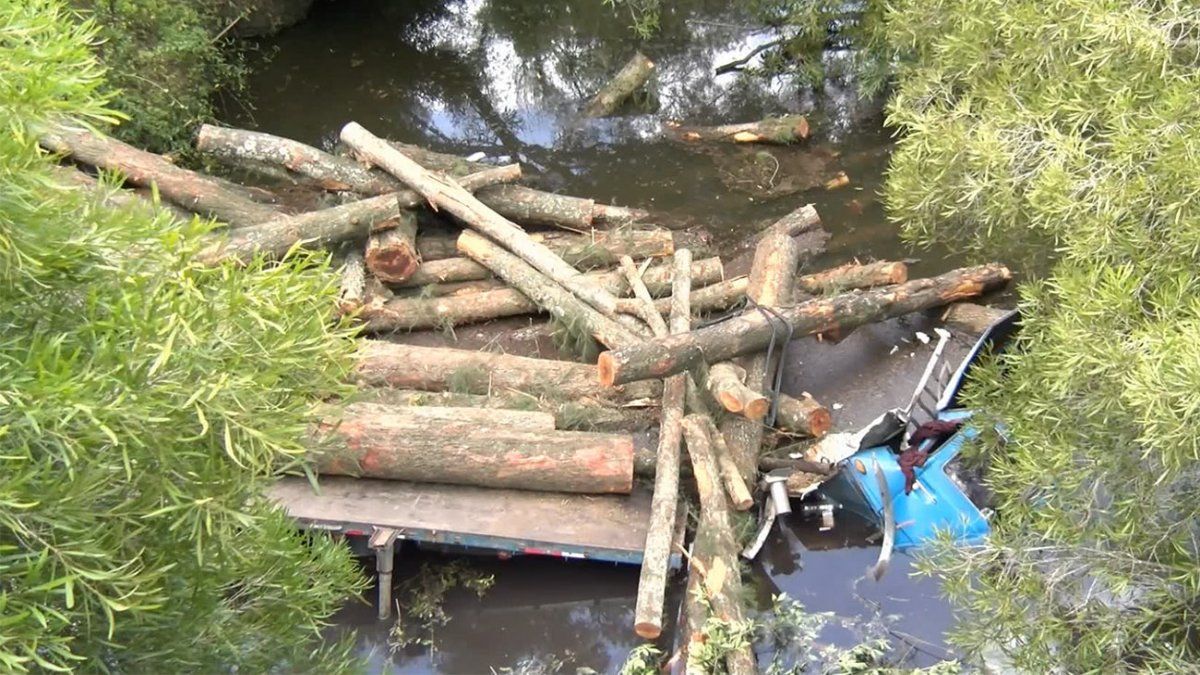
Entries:
MULTIPOLYGON (((632 261, 626 258, 629 267, 632 261)), ((674 283, 671 295, 670 327, 658 321, 652 325, 664 333, 686 333, 691 327, 691 309, 688 297, 691 280, 688 270, 691 267, 691 251, 680 249, 674 257, 674 283)), ((630 282, 634 292, 642 301, 649 301, 649 292, 638 282, 640 275, 632 269, 630 282)), ((654 495, 650 497, 650 520, 646 531, 646 546, 642 555, 642 569, 637 581, 637 604, 634 609, 634 632, 638 637, 654 640, 662 634, 662 608, 666 602, 667 572, 670 569, 671 543, 674 539, 674 515, 679 503, 679 444, 683 440, 683 413, 686 395, 688 376, 673 375, 662 383, 661 423, 659 425, 659 447, 656 471, 654 473, 654 495)))

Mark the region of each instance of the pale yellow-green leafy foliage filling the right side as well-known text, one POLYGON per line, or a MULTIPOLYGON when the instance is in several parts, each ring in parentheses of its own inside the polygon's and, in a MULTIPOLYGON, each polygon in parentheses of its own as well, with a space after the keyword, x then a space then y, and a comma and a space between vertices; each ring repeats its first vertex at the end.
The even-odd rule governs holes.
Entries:
POLYGON ((1200 658, 1200 7, 898 0, 887 202, 910 238, 1052 268, 971 402, 1000 518, 930 562, 956 635, 1031 671, 1200 658), (1026 249, 1028 250, 1028 249, 1026 249))

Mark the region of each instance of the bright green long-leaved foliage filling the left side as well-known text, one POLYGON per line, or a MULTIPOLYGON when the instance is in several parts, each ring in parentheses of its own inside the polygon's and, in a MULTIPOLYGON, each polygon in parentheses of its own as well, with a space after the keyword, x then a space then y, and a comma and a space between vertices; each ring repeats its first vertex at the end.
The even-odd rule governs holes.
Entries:
POLYGON ((353 344, 328 262, 193 262, 211 223, 55 183, 37 129, 103 125, 96 26, 0 1, 0 669, 337 670, 348 552, 264 488, 353 344))

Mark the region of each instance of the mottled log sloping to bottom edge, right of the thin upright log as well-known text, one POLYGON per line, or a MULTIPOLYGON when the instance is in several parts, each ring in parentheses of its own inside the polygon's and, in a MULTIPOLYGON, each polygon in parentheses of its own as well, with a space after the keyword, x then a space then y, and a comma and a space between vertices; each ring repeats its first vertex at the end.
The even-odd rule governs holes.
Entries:
MULTIPOLYGON (((721 491, 720 470, 713 454, 713 441, 702 416, 688 416, 683 429, 692 474, 696 478, 696 491, 700 494, 700 518, 688 574, 698 575, 696 587, 708 599, 712 614, 716 619, 740 623, 745 620, 742 608, 742 573, 738 566, 740 546, 733 537, 730 506, 721 491)), ((701 599, 696 596, 690 596, 686 603, 689 614, 701 616, 706 614, 701 599)), ((689 635, 689 673, 694 671, 694 657, 703 639, 702 634, 689 635)), ((754 651, 749 645, 730 652, 725 667, 730 675, 757 673, 754 651)))

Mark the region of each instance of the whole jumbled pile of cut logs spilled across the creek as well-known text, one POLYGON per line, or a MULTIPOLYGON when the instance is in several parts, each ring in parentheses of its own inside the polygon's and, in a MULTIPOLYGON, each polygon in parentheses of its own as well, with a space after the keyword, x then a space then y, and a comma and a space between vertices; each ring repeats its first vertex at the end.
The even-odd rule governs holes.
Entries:
MULTIPOLYGON (((634 66, 642 74, 653 67, 634 66)), ((683 141, 785 143, 805 138, 808 125, 787 118, 676 132, 683 141)), ((820 401, 776 390, 788 338, 840 338, 976 298, 1010 277, 990 264, 910 280, 902 262, 802 274, 810 251, 799 235, 820 229, 816 210, 802 207, 755 233, 750 274, 727 279, 719 257, 694 256, 688 239, 655 227, 646 211, 540 192, 516 184, 517 166, 391 143, 354 123, 341 139, 353 157, 258 132, 200 130, 198 149, 212 159, 282 168, 344 202, 307 213, 89 132, 47 133, 42 143, 223 221, 202 255, 208 264, 336 252, 331 321, 370 336, 352 376, 359 394, 323 410, 310 430, 319 473, 584 494, 628 494, 636 479, 652 479, 631 627, 646 639, 662 631, 676 515, 695 496, 684 641, 703 641, 710 617, 743 617, 731 519, 754 504, 763 446, 830 430, 820 401), (720 312, 730 316, 700 323, 720 312), (607 351, 576 363, 406 345, 394 335, 527 315, 548 315, 607 351), (634 432, 646 430, 656 440, 635 443, 634 432)), ((66 179, 90 189, 73 171, 66 179)), ((952 310, 964 324, 990 318, 972 305, 952 310)), ((726 668, 752 673, 754 655, 733 652, 726 668)))

